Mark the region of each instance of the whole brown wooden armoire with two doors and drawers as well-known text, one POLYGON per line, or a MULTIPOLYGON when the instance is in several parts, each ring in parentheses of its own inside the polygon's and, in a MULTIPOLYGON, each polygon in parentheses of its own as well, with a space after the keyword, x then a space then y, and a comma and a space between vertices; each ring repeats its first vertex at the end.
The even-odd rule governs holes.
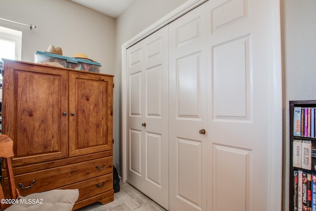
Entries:
POLYGON ((2 134, 14 141, 22 196, 79 189, 74 210, 114 200, 113 76, 3 60, 2 95, 2 134))

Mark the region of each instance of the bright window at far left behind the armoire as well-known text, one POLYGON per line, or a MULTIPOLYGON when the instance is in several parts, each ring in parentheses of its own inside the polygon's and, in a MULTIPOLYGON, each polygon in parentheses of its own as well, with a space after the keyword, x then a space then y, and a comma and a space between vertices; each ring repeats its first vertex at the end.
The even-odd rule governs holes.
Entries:
POLYGON ((0 58, 21 60, 22 32, 0 26, 0 58))

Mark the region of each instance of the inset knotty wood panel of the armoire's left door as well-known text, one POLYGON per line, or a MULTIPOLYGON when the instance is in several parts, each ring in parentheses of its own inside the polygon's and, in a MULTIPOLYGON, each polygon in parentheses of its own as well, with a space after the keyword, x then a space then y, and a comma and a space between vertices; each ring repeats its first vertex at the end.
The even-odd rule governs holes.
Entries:
MULTIPOLYGON (((60 136, 40 131, 42 128, 49 128, 51 132, 57 132, 58 127, 61 127, 60 122, 54 123, 54 120, 60 116, 60 112, 54 107, 60 100, 60 95, 52 95, 56 87, 61 85, 60 76, 16 71, 15 77, 18 82, 15 100, 23 102, 17 106, 16 110, 17 119, 20 120, 17 125, 18 140, 22 139, 24 142, 15 145, 17 151, 14 157, 59 151, 60 146, 56 139, 59 139, 60 136), (35 84, 41 84, 41 89, 35 84), (50 144, 36 144, 41 139, 51 139, 50 144)), ((60 94, 60 90, 56 91, 60 94)))

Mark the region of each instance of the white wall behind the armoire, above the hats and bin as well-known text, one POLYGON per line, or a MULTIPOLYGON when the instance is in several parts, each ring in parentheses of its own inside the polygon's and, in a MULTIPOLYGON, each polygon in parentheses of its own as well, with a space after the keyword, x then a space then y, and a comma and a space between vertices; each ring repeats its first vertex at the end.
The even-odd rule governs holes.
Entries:
POLYGON ((36 50, 50 44, 72 57, 82 52, 114 75, 115 19, 69 0, 1 0, 0 18, 34 24, 36 29, 0 20, 0 26, 22 31, 22 59, 33 62, 36 50))

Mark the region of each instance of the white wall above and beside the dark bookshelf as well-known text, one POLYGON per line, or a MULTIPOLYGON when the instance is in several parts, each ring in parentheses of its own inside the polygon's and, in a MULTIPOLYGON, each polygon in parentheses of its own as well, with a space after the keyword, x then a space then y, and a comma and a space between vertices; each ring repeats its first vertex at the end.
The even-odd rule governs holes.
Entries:
POLYGON ((288 211, 289 100, 316 99, 316 1, 281 0, 283 50, 283 211, 288 211))

